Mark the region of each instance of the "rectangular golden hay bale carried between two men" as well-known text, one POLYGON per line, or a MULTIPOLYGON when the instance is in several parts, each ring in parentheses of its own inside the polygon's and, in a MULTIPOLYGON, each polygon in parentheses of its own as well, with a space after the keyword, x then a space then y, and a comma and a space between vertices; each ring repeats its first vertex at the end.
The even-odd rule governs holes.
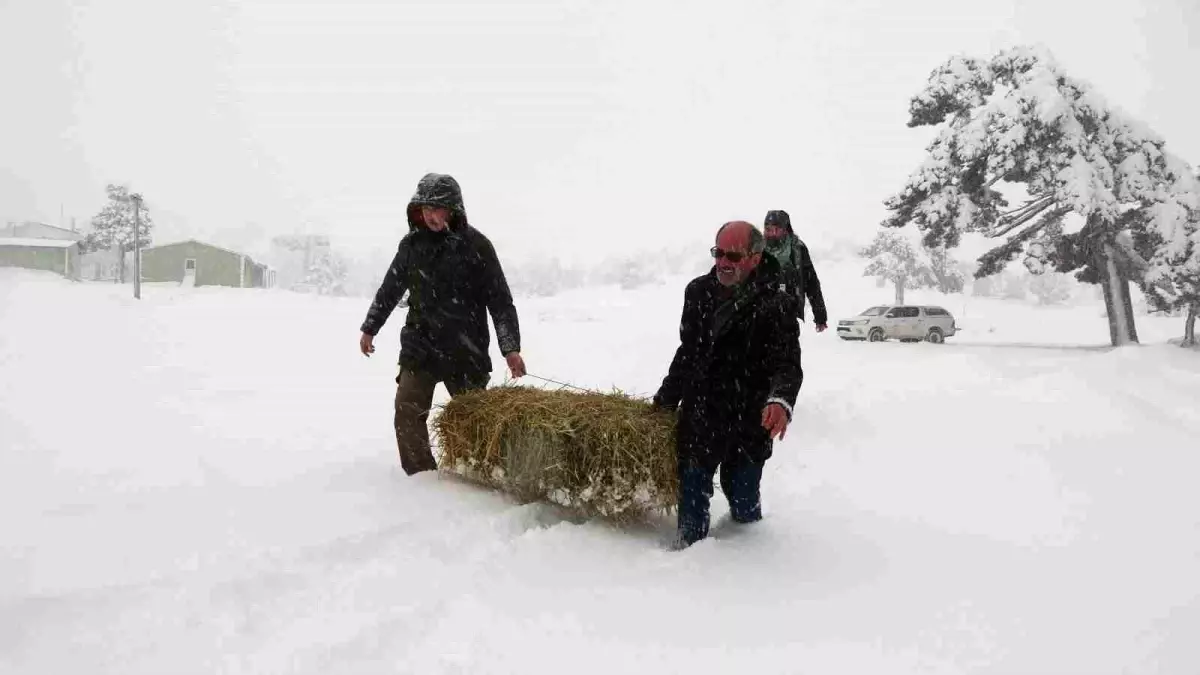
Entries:
POLYGON ((625 394, 505 384, 433 420, 442 471, 618 520, 674 508, 674 416, 625 394))

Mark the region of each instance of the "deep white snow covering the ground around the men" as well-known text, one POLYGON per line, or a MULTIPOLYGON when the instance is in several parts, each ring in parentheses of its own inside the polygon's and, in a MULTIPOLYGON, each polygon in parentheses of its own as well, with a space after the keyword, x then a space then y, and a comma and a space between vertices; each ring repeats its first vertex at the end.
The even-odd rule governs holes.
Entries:
MULTIPOLYGON (((834 318, 890 300, 824 282, 834 318)), ((521 300, 530 372, 652 393, 682 294, 521 300)), ((1142 346, 1112 351, 1099 305, 914 293, 966 331, 805 327, 766 520, 668 552, 670 519, 575 524, 404 477, 402 310, 365 359, 361 299, 128 295, 0 270, 5 673, 1200 668, 1200 354, 1165 345, 1182 319, 1139 317, 1142 346)))

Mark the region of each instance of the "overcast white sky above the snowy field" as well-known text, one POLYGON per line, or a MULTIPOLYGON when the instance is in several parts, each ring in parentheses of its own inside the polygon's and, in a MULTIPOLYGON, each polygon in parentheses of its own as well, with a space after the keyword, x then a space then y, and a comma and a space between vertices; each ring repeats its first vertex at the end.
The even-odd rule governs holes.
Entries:
POLYGON ((391 251, 438 171, 508 257, 772 208, 865 239, 929 72, 1034 42, 1200 163, 1196 0, 0 0, 0 219, 83 221, 124 181, 226 241, 391 251))

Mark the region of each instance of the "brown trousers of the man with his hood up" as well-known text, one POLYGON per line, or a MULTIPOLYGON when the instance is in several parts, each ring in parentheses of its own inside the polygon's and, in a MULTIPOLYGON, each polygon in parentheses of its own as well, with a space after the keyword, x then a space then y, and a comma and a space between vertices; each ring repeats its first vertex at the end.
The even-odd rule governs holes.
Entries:
MULTIPOLYGON (((440 381, 450 396, 487 387, 488 374, 448 377, 440 381)), ((396 376, 396 447, 400 466, 412 476, 438 467, 430 448, 430 408, 438 378, 415 370, 402 369, 396 376)))

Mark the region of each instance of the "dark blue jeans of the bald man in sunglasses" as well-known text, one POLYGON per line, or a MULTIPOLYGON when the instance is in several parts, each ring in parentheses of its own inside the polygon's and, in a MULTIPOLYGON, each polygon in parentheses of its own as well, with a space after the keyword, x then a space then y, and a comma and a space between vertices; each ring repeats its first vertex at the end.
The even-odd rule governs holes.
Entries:
MULTIPOLYGON (((736 522, 762 520, 758 486, 762 467, 738 453, 720 464, 721 491, 730 502, 730 516, 736 522)), ((709 503, 716 466, 695 460, 679 461, 679 540, 691 545, 708 536, 709 503)))

